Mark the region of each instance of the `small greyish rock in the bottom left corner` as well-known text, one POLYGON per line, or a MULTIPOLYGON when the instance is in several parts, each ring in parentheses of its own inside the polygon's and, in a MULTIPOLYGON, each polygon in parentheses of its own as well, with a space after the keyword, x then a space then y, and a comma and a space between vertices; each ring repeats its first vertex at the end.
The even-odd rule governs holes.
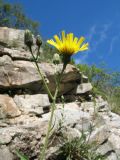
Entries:
POLYGON ((13 154, 7 146, 0 146, 0 160, 13 160, 13 154))

